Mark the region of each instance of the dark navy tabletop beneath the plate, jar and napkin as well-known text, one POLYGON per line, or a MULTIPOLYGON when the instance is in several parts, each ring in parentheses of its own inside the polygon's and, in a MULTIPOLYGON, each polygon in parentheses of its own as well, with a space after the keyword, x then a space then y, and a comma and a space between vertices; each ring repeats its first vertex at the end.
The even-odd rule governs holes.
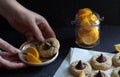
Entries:
MULTIPOLYGON (((1 77, 53 77, 60 64, 69 52, 70 47, 78 47, 75 44, 75 26, 64 26, 54 28, 57 38, 60 41, 60 54, 58 58, 51 64, 40 67, 27 67, 18 70, 0 69, 1 77)), ((100 44, 92 50, 99 50, 102 52, 115 53, 114 44, 120 43, 120 25, 101 25, 100 27, 100 44)), ((5 30, 0 28, 0 37, 8 41, 12 45, 19 47, 24 41, 25 37, 16 31, 10 29, 5 30), (4 31, 3 31, 4 30, 4 31)))

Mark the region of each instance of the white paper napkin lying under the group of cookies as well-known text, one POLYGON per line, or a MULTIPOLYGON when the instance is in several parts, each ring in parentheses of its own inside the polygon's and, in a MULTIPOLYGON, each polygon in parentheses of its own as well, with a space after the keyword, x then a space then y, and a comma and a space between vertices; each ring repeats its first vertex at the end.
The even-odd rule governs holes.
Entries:
MULTIPOLYGON (((87 50, 87 49, 81 49, 81 48, 70 48, 70 53, 66 56, 65 60, 61 64, 61 66, 56 71, 54 77, 73 77, 69 72, 70 64, 76 60, 84 60, 89 61, 93 55, 96 54, 106 54, 110 58, 114 54, 106 53, 106 52, 100 52, 100 51, 93 51, 93 50, 87 50)), ((108 73, 111 73, 113 67, 111 67, 109 70, 107 70, 108 73)))

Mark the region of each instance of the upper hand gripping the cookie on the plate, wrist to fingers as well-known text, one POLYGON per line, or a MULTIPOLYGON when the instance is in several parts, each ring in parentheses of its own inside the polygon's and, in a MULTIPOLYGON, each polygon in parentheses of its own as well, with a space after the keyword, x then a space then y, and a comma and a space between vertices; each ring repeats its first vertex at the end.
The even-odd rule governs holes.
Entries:
POLYGON ((8 21, 17 31, 24 34, 27 39, 44 41, 47 38, 55 37, 54 31, 46 19, 30 10, 19 12, 8 21))

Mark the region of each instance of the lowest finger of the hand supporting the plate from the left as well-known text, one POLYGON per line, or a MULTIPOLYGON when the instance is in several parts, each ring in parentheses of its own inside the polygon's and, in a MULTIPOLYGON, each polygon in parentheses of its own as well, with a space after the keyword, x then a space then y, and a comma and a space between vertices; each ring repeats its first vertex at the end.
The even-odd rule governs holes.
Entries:
POLYGON ((0 68, 6 69, 19 69, 25 67, 25 64, 21 62, 10 62, 0 56, 0 66, 0 68))

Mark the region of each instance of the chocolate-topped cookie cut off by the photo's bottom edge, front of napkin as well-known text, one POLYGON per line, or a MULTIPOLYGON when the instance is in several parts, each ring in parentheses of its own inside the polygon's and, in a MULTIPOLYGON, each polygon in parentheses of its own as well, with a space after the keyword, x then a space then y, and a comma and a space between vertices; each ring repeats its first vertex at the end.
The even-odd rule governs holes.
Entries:
POLYGON ((110 75, 105 71, 99 70, 91 72, 88 77, 110 77, 110 75))

